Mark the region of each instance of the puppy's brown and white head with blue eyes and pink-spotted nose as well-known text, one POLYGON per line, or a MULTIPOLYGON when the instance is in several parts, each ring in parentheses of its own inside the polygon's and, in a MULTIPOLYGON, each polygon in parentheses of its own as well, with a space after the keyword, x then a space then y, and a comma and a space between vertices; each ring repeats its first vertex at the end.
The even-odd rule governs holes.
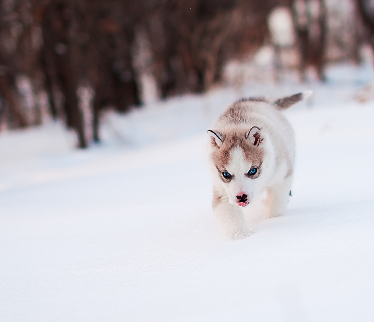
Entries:
POLYGON ((219 182, 229 196, 229 202, 247 206, 263 185, 262 172, 266 149, 262 129, 235 131, 208 130, 211 158, 219 182))

